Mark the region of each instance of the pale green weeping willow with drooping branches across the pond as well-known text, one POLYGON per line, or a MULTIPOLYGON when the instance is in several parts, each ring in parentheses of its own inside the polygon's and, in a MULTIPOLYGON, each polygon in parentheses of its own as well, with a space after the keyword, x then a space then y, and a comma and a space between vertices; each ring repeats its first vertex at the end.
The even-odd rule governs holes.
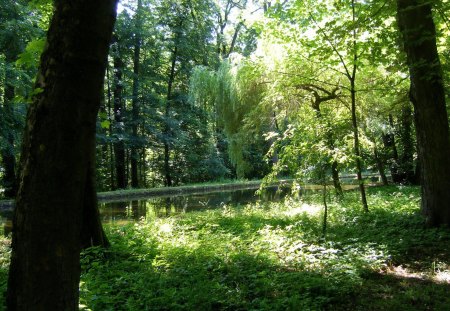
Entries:
POLYGON ((263 133, 270 127, 271 114, 259 109, 266 88, 262 73, 262 67, 236 57, 222 61, 215 72, 199 67, 191 79, 191 101, 214 113, 238 178, 268 172, 264 155, 269 146, 263 133))

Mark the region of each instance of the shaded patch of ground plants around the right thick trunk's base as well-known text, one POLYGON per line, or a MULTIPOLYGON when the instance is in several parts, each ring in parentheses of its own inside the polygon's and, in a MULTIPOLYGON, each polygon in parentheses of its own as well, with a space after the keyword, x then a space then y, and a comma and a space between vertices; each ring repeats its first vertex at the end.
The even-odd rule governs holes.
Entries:
POLYGON ((330 238, 342 245, 385 249, 393 265, 423 270, 444 264, 450 268, 450 228, 427 228, 418 212, 373 209, 354 221, 335 222, 328 228, 330 238))

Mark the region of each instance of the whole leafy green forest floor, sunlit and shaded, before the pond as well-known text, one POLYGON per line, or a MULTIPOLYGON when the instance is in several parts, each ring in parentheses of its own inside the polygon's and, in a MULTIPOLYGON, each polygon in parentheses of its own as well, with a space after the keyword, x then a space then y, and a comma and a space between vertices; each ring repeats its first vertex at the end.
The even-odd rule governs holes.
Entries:
MULTIPOLYGON (((106 226, 81 256, 82 310, 450 310, 450 229, 416 187, 224 206, 106 226)), ((9 240, 0 249, 6 287, 9 240)))

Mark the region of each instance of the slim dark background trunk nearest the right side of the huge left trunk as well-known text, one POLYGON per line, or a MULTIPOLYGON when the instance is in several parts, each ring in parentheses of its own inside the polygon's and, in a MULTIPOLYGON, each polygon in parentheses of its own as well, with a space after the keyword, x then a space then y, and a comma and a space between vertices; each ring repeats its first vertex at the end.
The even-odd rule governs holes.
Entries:
MULTIPOLYGON (((117 42, 119 45, 119 42, 117 42)), ((123 61, 119 55, 119 49, 114 51, 114 121, 116 141, 114 143, 114 159, 116 168, 116 189, 124 189, 127 186, 127 178, 125 175, 125 143, 123 141, 123 114, 125 109, 123 106, 123 61)))

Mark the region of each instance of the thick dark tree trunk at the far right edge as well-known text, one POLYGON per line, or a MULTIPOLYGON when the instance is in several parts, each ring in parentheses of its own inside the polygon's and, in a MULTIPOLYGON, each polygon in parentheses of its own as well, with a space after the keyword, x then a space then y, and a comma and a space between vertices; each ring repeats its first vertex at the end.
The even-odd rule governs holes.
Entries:
POLYGON ((450 138, 431 4, 397 0, 397 18, 411 79, 422 212, 429 225, 450 224, 450 138))

